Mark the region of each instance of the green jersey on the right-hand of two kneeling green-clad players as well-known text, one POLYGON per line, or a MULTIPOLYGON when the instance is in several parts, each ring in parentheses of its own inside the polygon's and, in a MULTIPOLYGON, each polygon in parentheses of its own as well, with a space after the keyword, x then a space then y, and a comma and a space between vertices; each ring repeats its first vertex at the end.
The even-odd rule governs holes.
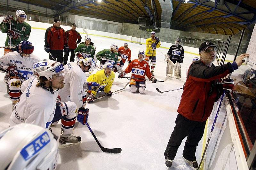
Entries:
POLYGON ((106 57, 107 62, 110 62, 113 67, 117 68, 118 53, 112 53, 109 49, 105 49, 96 54, 98 60, 101 61, 101 57, 106 57))

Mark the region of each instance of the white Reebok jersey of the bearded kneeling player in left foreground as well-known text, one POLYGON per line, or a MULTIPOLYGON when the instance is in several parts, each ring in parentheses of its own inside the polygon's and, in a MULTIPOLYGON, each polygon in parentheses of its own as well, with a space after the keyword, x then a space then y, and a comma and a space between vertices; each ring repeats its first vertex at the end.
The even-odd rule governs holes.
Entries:
POLYGON ((54 117, 58 93, 47 87, 45 89, 36 87, 36 84, 35 76, 22 83, 23 93, 10 117, 10 126, 30 123, 49 129, 54 117))

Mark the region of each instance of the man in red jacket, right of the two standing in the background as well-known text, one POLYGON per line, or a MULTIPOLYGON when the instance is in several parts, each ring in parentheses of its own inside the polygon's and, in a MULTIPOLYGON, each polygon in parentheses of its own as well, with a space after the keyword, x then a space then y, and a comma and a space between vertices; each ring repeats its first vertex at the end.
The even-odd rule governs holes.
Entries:
POLYGON ((75 61, 75 49, 76 49, 76 44, 80 43, 82 37, 79 34, 79 32, 76 31, 76 24, 73 23, 71 25, 71 30, 66 31, 66 36, 67 36, 67 44, 69 46, 68 51, 64 54, 63 57, 63 64, 67 64, 68 62, 68 55, 70 52, 70 60, 71 61, 75 61), (76 41, 77 40, 77 41, 76 41))

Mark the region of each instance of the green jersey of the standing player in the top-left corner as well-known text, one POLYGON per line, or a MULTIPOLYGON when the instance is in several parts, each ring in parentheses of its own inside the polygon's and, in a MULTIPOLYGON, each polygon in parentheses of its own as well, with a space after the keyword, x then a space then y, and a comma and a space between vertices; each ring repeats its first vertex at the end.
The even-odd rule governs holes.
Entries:
MULTIPOLYGON (((14 31, 15 33, 19 34, 18 39, 11 39, 11 46, 16 47, 20 44, 20 41, 27 41, 29 38, 29 34, 31 32, 31 26, 26 23, 23 22, 18 23, 16 20, 11 20, 11 29, 12 31, 14 31)), ((3 33, 7 33, 7 30, 10 29, 10 24, 9 23, 1 23, 0 24, 0 30, 3 33)), ((6 37, 6 41, 4 43, 5 46, 9 46, 8 45, 8 41, 9 41, 9 36, 7 35, 6 37)))

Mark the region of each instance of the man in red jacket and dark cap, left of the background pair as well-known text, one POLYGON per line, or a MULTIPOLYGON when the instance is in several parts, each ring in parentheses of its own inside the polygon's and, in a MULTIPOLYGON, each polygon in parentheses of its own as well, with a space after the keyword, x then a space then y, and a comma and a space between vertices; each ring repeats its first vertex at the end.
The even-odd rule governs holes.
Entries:
POLYGON ((49 53, 50 60, 62 63, 63 52, 69 49, 65 30, 60 27, 60 19, 54 18, 53 25, 46 29, 44 35, 44 50, 49 53))

